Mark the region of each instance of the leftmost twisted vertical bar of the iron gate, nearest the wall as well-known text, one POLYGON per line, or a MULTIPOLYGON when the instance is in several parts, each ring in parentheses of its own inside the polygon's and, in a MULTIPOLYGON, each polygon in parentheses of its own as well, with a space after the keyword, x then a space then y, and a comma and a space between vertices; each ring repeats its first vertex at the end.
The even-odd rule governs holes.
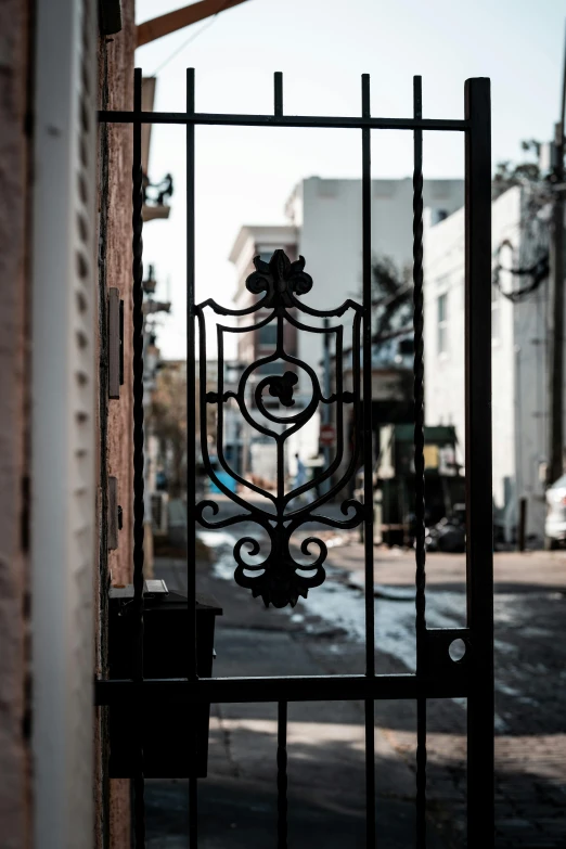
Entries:
MULTIPOLYGON (((132 678, 143 681, 143 171, 141 158, 142 72, 133 76, 132 159, 132 371, 133 371, 133 610, 132 678)), ((143 710, 136 718, 137 758, 133 779, 136 846, 145 846, 143 780, 143 710)))

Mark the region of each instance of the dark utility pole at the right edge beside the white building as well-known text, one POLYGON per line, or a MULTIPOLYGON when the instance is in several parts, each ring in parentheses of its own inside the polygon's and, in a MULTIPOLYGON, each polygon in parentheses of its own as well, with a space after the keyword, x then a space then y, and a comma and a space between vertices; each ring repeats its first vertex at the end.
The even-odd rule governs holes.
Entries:
POLYGON ((564 111, 566 107, 566 47, 562 80, 561 120, 554 127, 553 183, 555 195, 550 244, 549 314, 549 463, 546 485, 564 472, 564 111))

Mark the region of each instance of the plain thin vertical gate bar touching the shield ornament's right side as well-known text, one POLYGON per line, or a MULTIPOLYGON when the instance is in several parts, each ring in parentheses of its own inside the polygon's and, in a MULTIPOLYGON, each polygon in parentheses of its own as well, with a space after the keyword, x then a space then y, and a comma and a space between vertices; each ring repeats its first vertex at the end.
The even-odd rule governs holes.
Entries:
MULTIPOLYGON (((362 74, 362 117, 371 116, 370 75, 362 74)), ((363 304, 363 540, 365 558, 365 674, 375 674, 373 596, 373 429, 372 429, 372 175, 371 130, 362 129, 362 304, 363 304)), ((365 845, 375 846, 375 726, 373 699, 365 712, 365 845)))

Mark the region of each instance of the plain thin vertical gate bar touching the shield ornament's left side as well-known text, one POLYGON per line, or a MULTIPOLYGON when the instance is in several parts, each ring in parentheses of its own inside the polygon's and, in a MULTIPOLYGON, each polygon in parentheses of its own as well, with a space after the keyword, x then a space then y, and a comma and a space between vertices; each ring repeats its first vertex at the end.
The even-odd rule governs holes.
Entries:
MULTIPOLYGON (((194 115, 194 68, 186 69, 186 115, 194 115)), ((195 546, 195 270, 194 270, 194 124, 186 124, 186 615, 189 617, 189 669, 191 681, 197 679, 196 667, 196 546, 195 546)), ((189 769, 196 770, 196 722, 194 711, 189 721, 193 728, 189 769)), ((197 781, 189 779, 189 846, 198 840, 197 781)))

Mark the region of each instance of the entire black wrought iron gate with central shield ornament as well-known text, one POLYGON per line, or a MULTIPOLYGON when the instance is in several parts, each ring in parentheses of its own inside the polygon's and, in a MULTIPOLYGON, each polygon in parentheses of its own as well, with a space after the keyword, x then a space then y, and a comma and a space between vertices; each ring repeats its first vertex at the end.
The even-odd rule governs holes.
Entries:
MULTIPOLYGON (((136 846, 145 840, 143 803, 143 746, 142 711, 140 706, 181 702, 186 705, 188 722, 192 711, 201 704, 273 702, 278 703, 278 846, 287 846, 286 827, 286 723, 287 704, 305 700, 363 700, 365 705, 365 792, 366 792, 366 846, 378 846, 375 834, 375 771, 374 771, 374 702, 375 699, 411 699, 417 706, 416 748, 416 835, 415 845, 425 846, 426 828, 426 706, 429 698, 467 699, 467 835, 471 849, 493 846, 493 612, 492 612, 492 515, 491 515, 491 164, 490 164, 490 88, 488 79, 471 79, 465 83, 465 117, 458 120, 423 118, 421 78, 414 79, 414 108, 412 118, 376 118, 370 111, 370 78, 362 77, 360 117, 287 116, 283 112, 283 79, 274 77, 273 115, 227 115, 195 113, 194 72, 186 75, 186 111, 182 113, 145 113, 141 108, 141 70, 136 72, 134 103, 131 112, 102 112, 101 121, 127 123, 133 131, 133 397, 134 397, 134 628, 133 674, 128 680, 101 680, 97 682, 99 705, 129 705, 132 721, 138 722, 138 746, 134 773, 134 834, 136 846), (204 460, 210 477, 218 488, 245 511, 239 516, 214 522, 218 506, 211 502, 195 505, 189 496, 189 550, 186 557, 189 633, 196 634, 195 616, 195 549, 192 528, 195 522, 205 527, 226 527, 239 520, 255 522, 271 543, 271 551, 260 566, 250 566, 242 557, 242 546, 248 553, 258 554, 257 540, 241 539, 234 548, 235 579, 260 595, 266 603, 275 606, 295 604, 299 595, 307 595, 324 580, 323 563, 326 549, 316 537, 304 540, 303 554, 317 550, 317 557, 308 566, 294 559, 290 546, 292 533, 303 524, 317 520, 342 528, 364 527, 365 551, 365 673, 321 677, 270 678, 198 678, 196 669, 195 639, 189 645, 189 676, 185 679, 149 680, 143 671, 143 316, 142 316, 142 124, 183 125, 186 128, 186 385, 188 385, 188 480, 195 480, 195 342, 196 323, 201 325, 201 364, 206 368, 205 309, 219 316, 250 316, 250 324, 218 325, 218 356, 223 356, 223 332, 257 330, 268 323, 276 326, 276 348, 273 355, 250 364, 242 375, 235 391, 224 391, 222 369, 219 368, 218 391, 206 391, 206 380, 201 381, 202 430, 206 434, 206 404, 216 404, 219 430, 222 428, 224 403, 232 398, 248 424, 269 435, 276 442, 278 481, 275 492, 266 492, 248 480, 239 478, 250 490, 262 492, 271 503, 269 511, 250 505, 245 498, 227 488, 213 468, 203 446, 204 460), (336 310, 314 310, 300 300, 313 281, 305 271, 305 260, 290 262, 283 252, 275 252, 271 261, 256 260, 256 271, 247 280, 249 292, 259 296, 249 309, 229 310, 214 301, 195 305, 194 272, 194 128, 197 125, 248 127, 312 127, 357 128, 361 131, 362 149, 362 253, 363 292, 361 303, 346 301, 336 310), (413 298, 414 298, 414 467, 415 467, 415 607, 416 607, 416 671, 407 674, 376 674, 374 664, 374 571, 373 571, 373 491, 372 491, 372 412, 371 403, 371 175, 370 141, 372 130, 410 130, 414 139, 413 173, 413 298), (465 159, 465 360, 466 360, 466 515, 467 515, 467 627, 462 629, 430 629, 426 626, 425 609, 425 525, 424 525, 424 363, 423 363, 423 131, 445 130, 464 132, 465 159), (261 320, 253 322, 252 313, 261 309, 261 320), (268 312, 267 318, 263 316, 268 312), (349 314, 351 321, 352 372, 351 390, 345 390, 339 375, 342 324, 331 326, 320 319, 340 319, 349 314), (307 316, 307 319, 303 319, 307 316), (307 324, 308 317, 314 323, 307 324), (324 396, 313 370, 305 362, 285 352, 283 324, 294 324, 299 333, 316 332, 334 335, 337 375, 335 391, 324 396), (269 374, 269 364, 276 359, 288 364, 284 374, 269 374), (258 427, 247 407, 246 382, 254 369, 268 366, 267 376, 256 382, 255 406, 263 420, 276 423, 278 428, 258 427), (296 414, 281 416, 263 404, 263 393, 279 399, 283 407, 291 407, 297 370, 305 370, 312 382, 312 400, 296 414), (321 473, 330 480, 338 469, 344 449, 342 410, 351 404, 355 422, 355 446, 350 461, 339 480, 326 485, 307 505, 293 499, 312 484, 305 484, 285 492, 283 480, 284 442, 290 433, 301 427, 321 404, 335 404, 338 420, 337 456, 321 473), (281 425, 286 429, 283 429, 281 425), (361 458, 363 456, 363 461, 361 458), (360 460, 358 460, 360 458, 360 460), (322 507, 363 463, 363 501, 346 500, 343 504, 344 520, 336 520, 313 513, 322 507), (207 511, 211 511, 211 514, 207 511), (206 514, 206 515, 205 515, 206 514), (208 518, 207 518, 208 516, 208 518), (303 574, 309 570, 310 574, 303 574), (454 663, 449 647, 454 640, 465 643, 465 655, 454 663)), ((314 281, 314 285, 317 281, 314 281)), ((232 477, 236 477, 222 456, 219 437, 219 461, 232 477)), ((316 592, 316 589, 314 589, 316 592)), ((193 756, 196 751, 193 741, 193 756)), ((191 752, 189 754, 191 758, 191 752)), ((197 845, 197 780, 190 779, 190 845, 197 845)))

